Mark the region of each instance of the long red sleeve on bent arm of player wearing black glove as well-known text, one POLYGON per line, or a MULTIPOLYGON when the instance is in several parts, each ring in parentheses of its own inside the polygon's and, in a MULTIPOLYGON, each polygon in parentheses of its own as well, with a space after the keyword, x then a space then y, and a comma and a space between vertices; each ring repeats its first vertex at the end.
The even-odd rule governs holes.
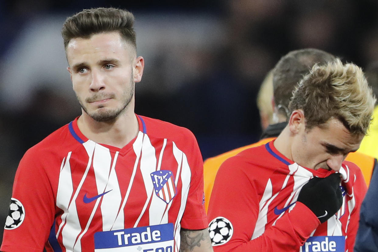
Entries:
MULTIPOLYGON (((228 220, 232 225, 232 236, 222 245, 213 244, 214 251, 299 251, 320 224, 311 210, 300 202, 277 220, 276 225, 266 228, 262 235, 251 240, 255 228, 259 228, 256 223, 260 204, 264 203, 259 202, 261 196, 256 184, 245 174, 245 166, 246 162, 240 159, 227 159, 215 178, 208 218, 211 222, 220 217, 228 220)), ((258 167, 253 168, 258 173, 258 167)))

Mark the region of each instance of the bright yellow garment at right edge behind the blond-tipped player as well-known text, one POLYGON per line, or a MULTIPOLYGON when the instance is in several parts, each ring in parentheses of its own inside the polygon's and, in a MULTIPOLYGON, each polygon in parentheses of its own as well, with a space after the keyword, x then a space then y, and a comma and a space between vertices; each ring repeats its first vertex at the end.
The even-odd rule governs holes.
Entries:
POLYGON ((378 158, 378 106, 375 106, 373 120, 367 130, 366 136, 361 141, 358 152, 378 158))

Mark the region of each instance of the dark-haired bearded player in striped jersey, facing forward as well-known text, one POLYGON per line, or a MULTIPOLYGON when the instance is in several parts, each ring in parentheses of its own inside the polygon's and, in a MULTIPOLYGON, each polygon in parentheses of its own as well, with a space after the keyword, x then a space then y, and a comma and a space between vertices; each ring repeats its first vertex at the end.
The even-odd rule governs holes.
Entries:
POLYGON ((144 60, 133 23, 115 8, 65 21, 82 114, 20 161, 2 251, 212 251, 197 141, 134 113, 144 60))

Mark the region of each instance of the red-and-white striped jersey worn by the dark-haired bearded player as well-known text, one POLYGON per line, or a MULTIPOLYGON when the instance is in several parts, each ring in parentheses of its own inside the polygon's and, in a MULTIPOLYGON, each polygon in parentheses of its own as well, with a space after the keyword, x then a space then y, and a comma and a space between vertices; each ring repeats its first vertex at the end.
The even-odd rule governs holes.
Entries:
POLYGON ((138 117, 123 148, 87 139, 77 119, 30 148, 15 176, 2 251, 173 252, 208 225, 203 164, 186 128, 138 117))

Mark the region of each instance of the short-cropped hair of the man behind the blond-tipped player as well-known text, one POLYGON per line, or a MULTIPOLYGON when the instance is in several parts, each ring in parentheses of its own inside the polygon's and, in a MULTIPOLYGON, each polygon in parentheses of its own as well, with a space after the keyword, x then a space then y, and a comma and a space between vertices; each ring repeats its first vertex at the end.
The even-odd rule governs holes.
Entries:
POLYGON ((290 116, 288 106, 294 87, 315 64, 325 64, 335 59, 332 54, 314 48, 290 51, 283 56, 273 69, 273 97, 279 113, 287 118, 290 116))

